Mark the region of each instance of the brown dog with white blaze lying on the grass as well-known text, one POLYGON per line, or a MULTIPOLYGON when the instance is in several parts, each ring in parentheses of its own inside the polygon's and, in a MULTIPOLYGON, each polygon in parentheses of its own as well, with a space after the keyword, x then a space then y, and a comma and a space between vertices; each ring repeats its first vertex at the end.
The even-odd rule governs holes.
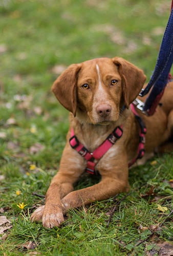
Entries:
MULTIPOLYGON (((130 104, 138 96, 145 79, 142 70, 115 57, 73 64, 54 82, 52 91, 71 112, 70 129, 59 172, 46 194, 46 204, 33 212, 32 221, 42 219, 45 227, 58 226, 68 209, 128 191, 128 162, 136 157, 139 145, 139 124, 130 104), (95 160, 101 181, 73 191, 75 182, 87 167, 87 160, 69 143, 72 129, 79 142, 94 152, 119 125, 123 129, 122 137, 99 160, 95 160)), ((137 111, 147 128, 143 162, 171 136, 172 97, 173 83, 170 83, 161 99, 162 106, 158 106, 154 116, 147 117, 137 111)))

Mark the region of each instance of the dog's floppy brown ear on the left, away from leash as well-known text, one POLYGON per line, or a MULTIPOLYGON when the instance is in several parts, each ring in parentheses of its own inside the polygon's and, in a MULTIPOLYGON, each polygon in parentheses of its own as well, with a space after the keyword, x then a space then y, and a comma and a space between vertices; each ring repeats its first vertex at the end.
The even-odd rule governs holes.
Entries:
POLYGON ((76 115, 77 100, 76 100, 76 84, 77 74, 81 68, 80 64, 72 64, 65 70, 54 82, 52 91, 59 102, 76 115))

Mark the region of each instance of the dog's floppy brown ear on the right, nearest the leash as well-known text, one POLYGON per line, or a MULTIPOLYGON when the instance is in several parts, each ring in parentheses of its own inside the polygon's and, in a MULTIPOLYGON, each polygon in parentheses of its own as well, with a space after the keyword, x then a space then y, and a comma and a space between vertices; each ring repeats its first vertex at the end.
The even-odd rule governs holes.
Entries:
POLYGON ((122 77, 125 106, 128 109, 129 104, 131 104, 140 93, 146 76, 141 69, 138 69, 135 65, 123 58, 115 57, 113 58, 113 62, 118 66, 118 71, 122 77))

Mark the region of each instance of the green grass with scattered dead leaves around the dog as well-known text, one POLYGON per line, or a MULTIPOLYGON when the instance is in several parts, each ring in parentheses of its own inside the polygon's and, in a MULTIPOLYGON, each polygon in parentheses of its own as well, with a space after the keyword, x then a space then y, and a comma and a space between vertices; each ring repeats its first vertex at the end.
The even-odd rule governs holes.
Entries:
MULTIPOLYGON (((13 225, 0 240, 1 255, 32 255, 32 251, 40 255, 144 254, 146 243, 134 246, 151 231, 140 232, 140 224, 162 223, 171 211, 172 154, 158 155, 151 160, 155 164, 148 161, 129 171, 133 193, 117 207, 108 228, 113 200, 71 210, 59 228, 46 229, 31 223, 29 216, 44 203, 32 192, 46 194, 69 126, 68 112, 50 90, 58 76, 53 68, 120 56, 143 69, 149 80, 169 8, 169 1, 157 0, 1 0, 0 175, 4 179, 0 179, 0 208, 4 213, 0 215, 13 225), (31 164, 37 168, 30 170, 31 164), (154 195, 144 196, 152 186, 154 195), (17 207, 22 202, 28 204, 24 211, 17 207), (158 205, 167 210, 159 210, 158 205), (36 248, 27 249, 29 241, 36 248)), ((85 174, 75 189, 98 180, 85 174)), ((168 219, 157 231, 161 241, 171 241, 171 225, 168 219)))

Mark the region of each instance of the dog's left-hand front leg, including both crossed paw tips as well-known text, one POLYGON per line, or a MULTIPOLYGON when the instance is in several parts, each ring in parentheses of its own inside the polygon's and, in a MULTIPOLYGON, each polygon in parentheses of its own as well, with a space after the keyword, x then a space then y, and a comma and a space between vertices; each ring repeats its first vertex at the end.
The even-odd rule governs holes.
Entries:
POLYGON ((37 208, 31 215, 32 222, 42 219, 45 227, 58 226, 64 221, 64 207, 61 199, 73 191, 74 183, 78 180, 85 168, 84 159, 66 146, 61 158, 58 173, 52 179, 46 194, 46 204, 37 208), (70 156, 70 157, 68 157, 70 156))

